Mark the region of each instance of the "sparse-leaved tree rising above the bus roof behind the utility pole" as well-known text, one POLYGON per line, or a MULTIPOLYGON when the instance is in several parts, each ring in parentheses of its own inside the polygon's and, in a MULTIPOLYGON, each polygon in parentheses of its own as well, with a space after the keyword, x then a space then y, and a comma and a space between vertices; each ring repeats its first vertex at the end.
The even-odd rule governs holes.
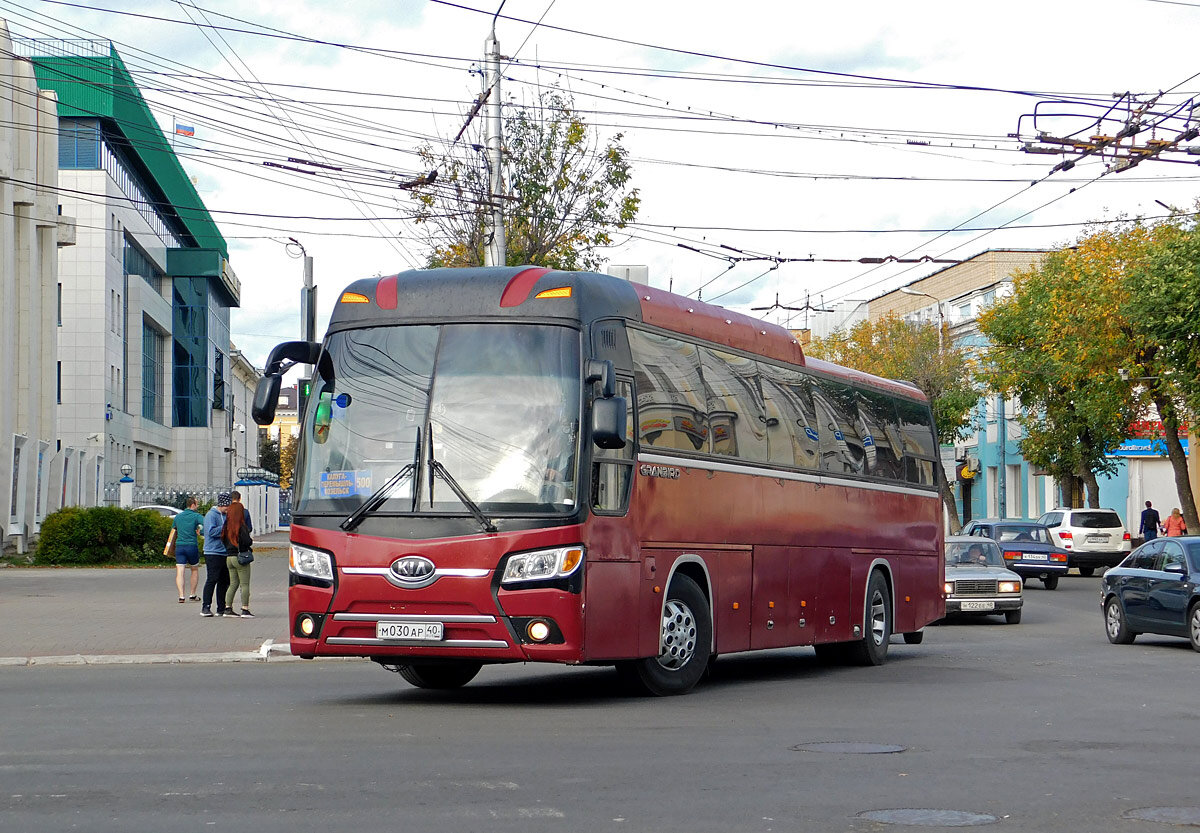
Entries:
MULTIPOLYGON (((602 265, 599 250, 637 216, 641 202, 620 140, 617 133, 601 144, 558 89, 542 92, 533 107, 508 104, 502 172, 508 265, 569 271, 602 265)), ((491 199, 481 146, 476 138, 421 150, 438 170, 412 188, 430 266, 484 264, 491 199)))

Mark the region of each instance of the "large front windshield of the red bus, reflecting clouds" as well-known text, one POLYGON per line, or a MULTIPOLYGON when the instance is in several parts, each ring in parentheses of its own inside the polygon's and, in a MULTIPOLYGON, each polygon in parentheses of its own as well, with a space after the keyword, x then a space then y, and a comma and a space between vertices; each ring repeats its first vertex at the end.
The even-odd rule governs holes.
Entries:
POLYGON ((414 463, 376 511, 466 511, 444 478, 430 477, 431 456, 488 514, 575 511, 578 331, 344 330, 329 336, 322 362, 330 378, 314 379, 304 414, 296 514, 349 514, 414 463))

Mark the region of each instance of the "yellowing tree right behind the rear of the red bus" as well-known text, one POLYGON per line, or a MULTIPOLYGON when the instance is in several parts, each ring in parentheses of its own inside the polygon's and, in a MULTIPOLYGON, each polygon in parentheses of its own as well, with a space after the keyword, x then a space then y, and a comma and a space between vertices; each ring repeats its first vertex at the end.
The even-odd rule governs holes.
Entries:
MULTIPOLYGON (((940 334, 934 324, 910 324, 899 316, 889 314, 874 322, 862 322, 848 332, 838 331, 827 338, 816 338, 808 346, 806 353, 917 385, 934 410, 938 443, 953 445, 967 433, 971 409, 979 401, 979 391, 971 380, 970 358, 961 348, 946 343, 947 336, 944 330, 940 334)), ((956 533, 961 522, 954 495, 942 466, 937 465, 935 469, 942 502, 950 517, 950 531, 956 533)))

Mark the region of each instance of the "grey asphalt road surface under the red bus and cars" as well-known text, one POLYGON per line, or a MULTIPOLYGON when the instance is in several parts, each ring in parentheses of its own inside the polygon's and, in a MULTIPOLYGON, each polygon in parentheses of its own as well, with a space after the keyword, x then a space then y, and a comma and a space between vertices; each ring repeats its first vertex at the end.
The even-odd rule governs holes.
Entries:
POLYGON ((743 654, 670 699, 587 667, 491 667, 450 694, 360 661, 0 667, 0 829, 1200 823, 1200 655, 1109 645, 1098 579, 1026 597, 1020 625, 930 628, 878 669, 743 654))

